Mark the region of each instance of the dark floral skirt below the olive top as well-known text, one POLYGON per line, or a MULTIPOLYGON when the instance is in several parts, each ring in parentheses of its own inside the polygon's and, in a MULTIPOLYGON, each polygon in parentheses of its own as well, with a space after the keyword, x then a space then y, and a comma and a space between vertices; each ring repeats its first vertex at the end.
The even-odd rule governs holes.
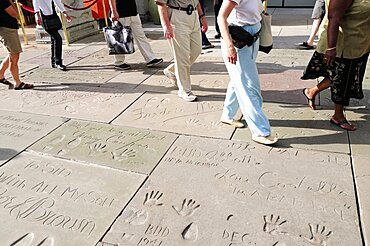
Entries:
POLYGON ((369 53, 356 59, 337 57, 333 66, 327 66, 324 62, 324 54, 315 51, 301 79, 329 78, 332 101, 348 106, 350 98, 364 98, 362 81, 368 57, 369 53))

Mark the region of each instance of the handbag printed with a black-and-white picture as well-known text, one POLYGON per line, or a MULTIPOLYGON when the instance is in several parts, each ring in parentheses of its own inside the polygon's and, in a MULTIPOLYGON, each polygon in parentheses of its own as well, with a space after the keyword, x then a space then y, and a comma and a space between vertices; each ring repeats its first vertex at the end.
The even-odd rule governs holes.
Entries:
POLYGON ((109 48, 109 55, 132 54, 135 52, 134 37, 129 26, 121 22, 113 22, 112 26, 103 28, 105 41, 109 48))

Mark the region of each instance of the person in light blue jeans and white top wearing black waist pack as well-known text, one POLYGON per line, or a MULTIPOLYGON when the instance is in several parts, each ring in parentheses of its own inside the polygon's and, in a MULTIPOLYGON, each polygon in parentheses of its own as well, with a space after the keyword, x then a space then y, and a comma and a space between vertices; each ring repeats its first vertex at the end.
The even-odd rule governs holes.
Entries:
POLYGON ((272 145, 278 140, 271 136, 270 123, 262 111, 260 80, 256 65, 259 41, 257 39, 249 47, 236 48, 228 29, 229 24, 241 26, 251 35, 255 35, 261 29, 262 11, 262 1, 228 0, 222 3, 218 23, 222 36, 222 56, 230 82, 221 122, 234 127, 244 127, 242 122, 234 119, 240 108, 252 133, 252 140, 272 145))

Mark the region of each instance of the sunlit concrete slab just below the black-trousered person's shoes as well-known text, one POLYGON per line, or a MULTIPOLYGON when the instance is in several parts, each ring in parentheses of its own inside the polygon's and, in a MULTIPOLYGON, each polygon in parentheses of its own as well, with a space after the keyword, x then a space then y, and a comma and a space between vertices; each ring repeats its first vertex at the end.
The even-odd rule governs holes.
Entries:
POLYGON ((50 84, 76 84, 76 85, 99 85, 112 79, 119 72, 112 71, 89 71, 67 70, 61 71, 55 68, 39 68, 22 75, 22 81, 31 83, 50 84))

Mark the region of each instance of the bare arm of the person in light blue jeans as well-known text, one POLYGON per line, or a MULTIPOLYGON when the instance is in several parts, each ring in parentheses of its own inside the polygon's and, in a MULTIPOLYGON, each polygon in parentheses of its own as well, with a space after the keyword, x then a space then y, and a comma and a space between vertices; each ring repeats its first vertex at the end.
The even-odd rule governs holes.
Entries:
POLYGON ((234 9, 236 3, 232 2, 230 0, 225 0, 222 2, 220 12, 217 17, 218 26, 220 27, 220 32, 223 40, 226 43, 227 46, 227 58, 228 61, 232 64, 236 63, 237 60, 237 54, 236 50, 233 44, 233 41, 231 39, 228 23, 227 23, 227 17, 230 15, 231 11, 234 9))

